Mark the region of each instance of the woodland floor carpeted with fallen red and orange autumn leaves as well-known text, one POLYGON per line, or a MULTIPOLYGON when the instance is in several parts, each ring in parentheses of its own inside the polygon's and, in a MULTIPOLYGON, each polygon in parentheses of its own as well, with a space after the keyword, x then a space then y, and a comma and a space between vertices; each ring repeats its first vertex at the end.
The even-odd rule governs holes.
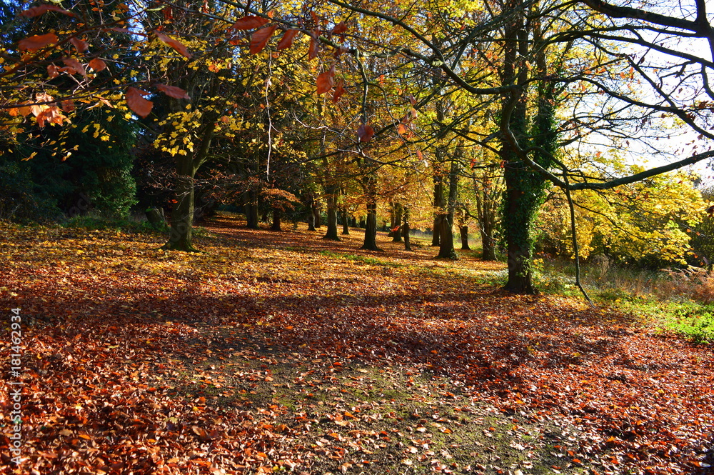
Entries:
POLYGON ((712 473, 712 346, 469 252, 240 224, 0 224, 2 473, 712 473))

